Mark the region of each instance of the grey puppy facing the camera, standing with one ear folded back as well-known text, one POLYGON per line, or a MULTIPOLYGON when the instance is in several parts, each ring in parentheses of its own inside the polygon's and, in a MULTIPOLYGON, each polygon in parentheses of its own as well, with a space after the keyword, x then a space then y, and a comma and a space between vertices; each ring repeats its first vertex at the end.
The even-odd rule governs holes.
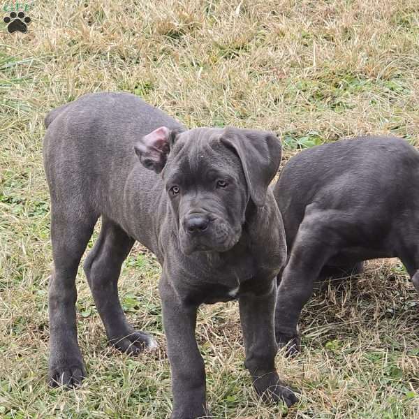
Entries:
POLYGON ((156 345, 126 321, 117 291, 122 262, 138 240, 161 263, 172 418, 208 414, 196 313, 200 304, 233 299, 239 300, 245 365, 256 392, 293 404, 296 397, 274 365, 275 278, 286 244, 268 186, 281 160, 279 140, 237 128, 186 131, 131 94, 83 96, 50 112, 45 124, 54 257, 51 382, 73 386, 85 375, 75 275, 101 216, 101 233, 84 271, 108 339, 120 351, 156 345))

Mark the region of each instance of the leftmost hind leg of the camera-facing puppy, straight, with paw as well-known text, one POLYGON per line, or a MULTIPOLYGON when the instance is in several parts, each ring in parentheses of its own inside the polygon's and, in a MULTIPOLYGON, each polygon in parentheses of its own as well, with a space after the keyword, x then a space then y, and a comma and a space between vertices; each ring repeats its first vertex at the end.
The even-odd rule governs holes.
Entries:
POLYGON ((75 387, 85 376, 78 347, 75 318, 75 276, 97 217, 78 206, 78 212, 52 203, 51 240, 54 270, 50 277, 50 360, 52 386, 75 387))

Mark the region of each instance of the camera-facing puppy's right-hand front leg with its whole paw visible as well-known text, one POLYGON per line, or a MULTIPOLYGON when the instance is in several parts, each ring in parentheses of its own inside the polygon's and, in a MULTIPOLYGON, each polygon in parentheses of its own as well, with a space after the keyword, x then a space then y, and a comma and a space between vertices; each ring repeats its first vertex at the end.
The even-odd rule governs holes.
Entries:
POLYGON ((258 395, 275 402, 283 399, 289 407, 297 402, 294 393, 279 380, 275 369, 277 343, 274 332, 274 309, 277 284, 272 280, 266 293, 240 295, 240 320, 246 351, 245 366, 249 369, 258 395))

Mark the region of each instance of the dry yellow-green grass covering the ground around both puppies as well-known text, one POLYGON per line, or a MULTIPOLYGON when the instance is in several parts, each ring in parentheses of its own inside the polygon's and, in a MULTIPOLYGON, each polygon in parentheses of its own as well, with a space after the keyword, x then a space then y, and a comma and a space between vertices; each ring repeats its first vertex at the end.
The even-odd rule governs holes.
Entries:
MULTIPOLYGON (((190 127, 276 131, 286 159, 358 133, 419 145, 419 3, 44 0, 28 15, 27 34, 0 27, 0 417, 167 418, 159 266, 140 246, 124 265, 121 297, 160 351, 134 359, 109 348, 80 272, 88 378, 77 391, 45 383, 43 117, 87 92, 124 90, 190 127)), ((216 418, 419 417, 419 299, 397 260, 325 284, 304 309, 302 329, 302 353, 277 357, 281 376, 301 390, 287 411, 259 404, 251 390, 237 304, 202 308, 197 336, 216 418)))

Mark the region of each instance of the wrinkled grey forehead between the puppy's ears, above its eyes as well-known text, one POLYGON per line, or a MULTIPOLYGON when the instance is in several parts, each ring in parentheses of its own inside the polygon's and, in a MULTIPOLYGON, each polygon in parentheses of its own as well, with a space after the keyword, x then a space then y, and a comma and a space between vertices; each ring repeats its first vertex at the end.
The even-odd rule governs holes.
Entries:
POLYGON ((195 128, 177 136, 163 177, 175 172, 197 177, 208 170, 240 176, 240 159, 220 141, 222 128, 195 128))

